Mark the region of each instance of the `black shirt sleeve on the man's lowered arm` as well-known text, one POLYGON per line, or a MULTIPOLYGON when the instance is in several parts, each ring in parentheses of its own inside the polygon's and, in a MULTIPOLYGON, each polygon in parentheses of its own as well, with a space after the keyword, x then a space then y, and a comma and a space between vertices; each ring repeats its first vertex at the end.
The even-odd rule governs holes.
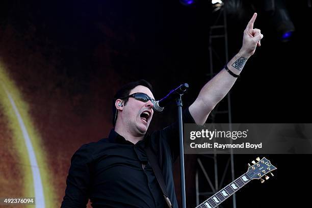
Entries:
POLYGON ((72 156, 61 208, 87 206, 90 187, 89 152, 88 144, 85 144, 72 156))

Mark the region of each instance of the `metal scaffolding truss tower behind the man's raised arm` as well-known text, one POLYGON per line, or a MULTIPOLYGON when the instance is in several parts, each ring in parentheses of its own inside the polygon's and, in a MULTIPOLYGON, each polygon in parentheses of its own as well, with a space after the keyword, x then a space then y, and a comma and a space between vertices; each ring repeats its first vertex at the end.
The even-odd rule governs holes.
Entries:
MULTIPOLYGON (((228 62, 228 42, 226 10, 223 5, 215 8, 212 12, 215 22, 210 26, 209 52, 210 71, 207 73, 207 80, 212 79, 228 62)), ((231 123, 230 93, 211 112, 207 122, 231 123)), ((230 127, 230 126, 229 126, 230 127)), ((222 189, 230 181, 235 179, 233 154, 209 154, 198 155, 196 169, 196 203, 197 205, 206 198, 211 197, 222 189), (222 160, 222 163, 219 162, 222 160), (212 162, 214 170, 212 171, 212 162), (220 168, 222 166, 222 169, 220 168), (219 169, 218 169, 219 168, 219 169), (209 169, 209 170, 207 170, 209 169), (220 171, 220 169, 222 171, 220 171), (230 169, 230 171, 229 171, 230 169), (221 173, 220 173, 221 172, 221 173), (221 177, 219 177, 221 176, 221 177), (228 179, 228 180, 227 180, 228 179), (200 181, 200 182, 199 182, 200 181), (226 183, 226 184, 225 184, 226 183)), ((232 195, 233 207, 236 208, 236 196, 232 195)), ((219 205, 222 207, 222 204, 219 205)))

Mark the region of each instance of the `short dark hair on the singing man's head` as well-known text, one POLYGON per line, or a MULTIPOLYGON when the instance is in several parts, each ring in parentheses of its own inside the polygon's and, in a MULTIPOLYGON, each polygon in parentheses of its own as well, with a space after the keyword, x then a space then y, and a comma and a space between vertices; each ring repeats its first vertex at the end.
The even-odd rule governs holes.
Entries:
MULTIPOLYGON (((153 91, 152 90, 152 86, 149 82, 147 82, 146 80, 138 80, 136 82, 131 82, 131 83, 128 83, 124 86, 122 86, 115 94, 114 96, 114 99, 113 99, 113 105, 112 105, 112 110, 113 110, 113 119, 112 119, 112 123, 113 123, 113 126, 115 126, 115 123, 116 123, 116 120, 117 120, 117 117, 118 117, 118 111, 115 107, 115 102, 117 99, 122 99, 126 96, 129 95, 130 91, 132 89, 134 89, 135 87, 139 86, 139 85, 142 85, 144 87, 147 87, 151 92, 153 91)), ((127 101, 128 101, 128 97, 123 99, 123 105, 125 106, 127 101)))

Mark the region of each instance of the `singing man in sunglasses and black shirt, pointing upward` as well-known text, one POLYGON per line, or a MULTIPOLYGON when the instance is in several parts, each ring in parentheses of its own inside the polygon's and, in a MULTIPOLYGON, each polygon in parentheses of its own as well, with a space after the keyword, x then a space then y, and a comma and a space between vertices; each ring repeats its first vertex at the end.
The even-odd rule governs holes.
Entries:
MULTIPOLYGON (((210 112, 228 93, 246 61, 260 46, 261 31, 253 29, 256 13, 243 35, 239 53, 200 90, 192 105, 184 110, 185 123, 204 124, 210 112)), ((166 192, 174 208, 172 165, 179 155, 178 125, 146 134, 153 117, 151 85, 140 80, 123 86, 113 102, 113 125, 109 137, 83 145, 72 159, 61 207, 168 207, 145 151, 155 154, 166 192)))

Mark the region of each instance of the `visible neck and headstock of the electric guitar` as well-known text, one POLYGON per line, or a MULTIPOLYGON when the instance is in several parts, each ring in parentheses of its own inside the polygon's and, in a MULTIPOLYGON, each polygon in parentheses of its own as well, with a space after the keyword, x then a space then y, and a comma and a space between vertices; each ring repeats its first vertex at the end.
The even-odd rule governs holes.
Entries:
MULTIPOLYGON (((248 164, 249 168, 246 173, 241 175, 239 178, 234 180, 232 183, 215 193, 213 196, 211 196, 209 199, 206 199, 204 202, 196 206, 196 208, 214 208, 217 207, 220 203, 225 201, 228 197, 230 197, 233 193, 240 190, 243 186, 249 183, 249 181, 253 179, 260 179, 261 177, 265 177, 266 180, 269 179, 269 176, 267 175, 271 171, 277 169, 274 167, 269 160, 266 158, 263 158, 260 160, 260 158, 256 158, 256 161, 252 161, 252 166, 248 164)), ((273 173, 271 173, 273 176, 273 173)), ((261 178, 261 183, 264 183, 264 179, 261 178)))

